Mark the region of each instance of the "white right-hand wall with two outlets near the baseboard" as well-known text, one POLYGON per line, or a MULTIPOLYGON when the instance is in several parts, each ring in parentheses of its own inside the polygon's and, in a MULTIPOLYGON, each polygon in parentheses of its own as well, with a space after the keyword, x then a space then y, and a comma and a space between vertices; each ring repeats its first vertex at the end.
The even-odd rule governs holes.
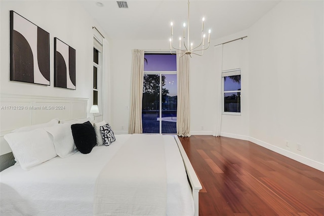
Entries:
POLYGON ((322 1, 282 1, 249 29, 251 140, 321 169, 323 26, 322 1))

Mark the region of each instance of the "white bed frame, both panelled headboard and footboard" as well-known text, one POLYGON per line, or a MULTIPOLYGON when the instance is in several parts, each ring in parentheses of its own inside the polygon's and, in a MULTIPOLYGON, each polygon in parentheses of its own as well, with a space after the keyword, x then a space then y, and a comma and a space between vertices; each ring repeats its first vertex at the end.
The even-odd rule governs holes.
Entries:
MULTIPOLYGON (((32 96, 32 95, 14 95, 0 94, 0 103, 2 107, 8 106, 6 110, 1 109, 1 131, 0 131, 0 161, 1 170, 13 165, 14 162, 11 149, 4 139, 4 135, 10 133, 13 129, 41 124, 48 122, 54 118, 69 120, 75 118, 87 118, 88 116, 88 98, 67 98, 67 97, 48 97, 48 96, 32 96), (15 110, 9 106, 14 106, 15 110), (62 110, 37 110, 40 106, 64 106, 62 110), (22 107, 17 110, 17 107, 22 107), (28 109, 25 109, 28 107, 28 109), (33 109, 35 108, 35 109, 33 109), (19 119, 19 121, 13 121, 19 119), (9 161, 10 160, 10 161, 9 161)), ((192 197, 194 200, 194 215, 199 214, 198 193, 202 189, 199 179, 189 161, 189 158, 182 147, 181 141, 177 135, 174 135, 179 151, 181 153, 183 163, 187 172, 188 181, 192 189, 192 197)), ((0 171, 1 171, 0 170, 0 171)))

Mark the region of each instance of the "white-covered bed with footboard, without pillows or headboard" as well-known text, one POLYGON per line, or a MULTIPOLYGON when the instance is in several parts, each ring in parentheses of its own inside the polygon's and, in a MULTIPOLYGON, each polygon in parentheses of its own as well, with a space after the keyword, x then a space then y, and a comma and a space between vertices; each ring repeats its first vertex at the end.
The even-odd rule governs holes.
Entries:
POLYGON ((111 145, 95 146, 89 154, 75 147, 71 152, 28 171, 14 165, 0 172, 0 214, 198 215, 201 186, 177 136, 115 135, 111 145), (155 142, 163 155, 140 155, 155 142), (164 162, 155 164, 154 157, 164 162), (152 206, 158 210, 151 212, 152 206))

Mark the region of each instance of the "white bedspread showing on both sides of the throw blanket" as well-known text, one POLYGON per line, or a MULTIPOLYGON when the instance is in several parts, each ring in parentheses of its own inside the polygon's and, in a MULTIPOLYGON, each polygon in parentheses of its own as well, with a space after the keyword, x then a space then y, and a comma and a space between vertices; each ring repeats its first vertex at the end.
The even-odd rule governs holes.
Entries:
MULTIPOLYGON (((77 152, 67 158, 55 157, 29 171, 12 166, 0 172, 0 214, 93 215, 96 178, 129 136, 116 135, 109 147, 96 146, 87 155, 77 152)), ((177 144, 174 137, 163 137, 167 215, 193 215, 193 199, 177 144)))

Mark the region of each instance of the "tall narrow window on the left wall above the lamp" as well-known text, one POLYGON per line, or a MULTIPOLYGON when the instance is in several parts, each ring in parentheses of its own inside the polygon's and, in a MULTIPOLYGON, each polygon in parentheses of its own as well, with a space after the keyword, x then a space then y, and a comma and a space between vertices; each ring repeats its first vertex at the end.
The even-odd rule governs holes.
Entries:
POLYGON ((98 105, 99 112, 102 112, 102 42, 94 36, 93 48, 93 105, 98 105))

